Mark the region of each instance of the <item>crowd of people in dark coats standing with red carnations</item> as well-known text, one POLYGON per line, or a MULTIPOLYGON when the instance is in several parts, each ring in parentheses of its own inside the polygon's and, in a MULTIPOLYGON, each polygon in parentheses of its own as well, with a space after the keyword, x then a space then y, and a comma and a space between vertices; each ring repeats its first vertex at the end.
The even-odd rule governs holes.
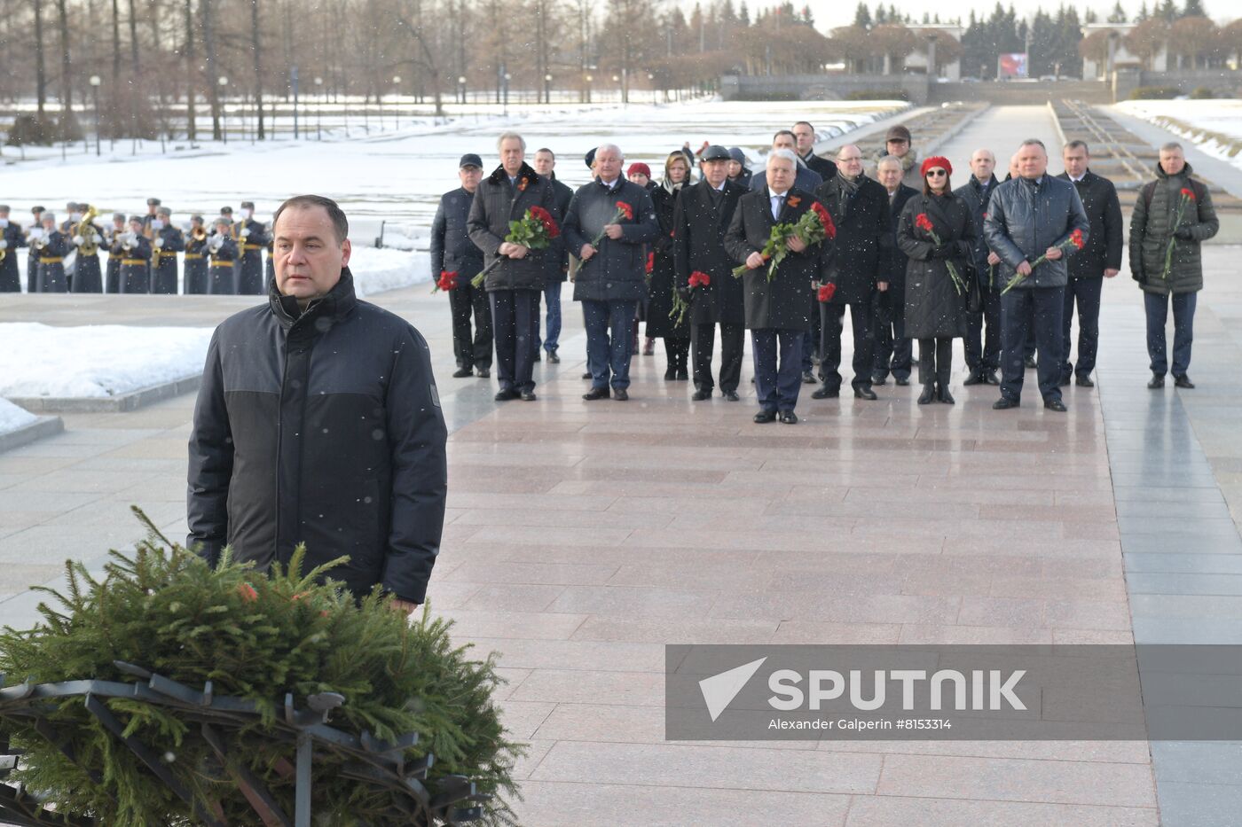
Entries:
MULTIPOLYGON (((995 154, 979 149, 969 180, 956 189, 951 161, 919 163, 905 127, 887 133, 874 178, 858 147, 847 144, 828 160, 815 155, 814 143, 814 127, 805 122, 777 132, 764 171, 753 176, 737 148, 678 149, 658 180, 646 164, 631 164, 622 176, 621 150, 605 144, 587 155, 594 180, 576 191, 555 180, 550 150, 537 153, 537 168, 527 165, 525 142, 513 133, 501 137, 501 166, 486 179, 479 158, 463 156, 462 188, 443 196, 432 232, 433 271, 462 276, 450 297, 456 375, 471 375, 472 368, 488 375, 494 330, 497 400, 535 399, 540 298, 548 304, 543 346, 559 361, 560 288, 569 276, 587 334, 586 400, 628 399, 633 320, 645 315, 648 339, 664 340, 664 379, 693 375, 696 401, 712 399, 717 387, 725 400, 740 399, 750 330, 755 420, 796 422, 800 385, 818 382, 815 399, 841 394, 847 309, 857 399, 877 399, 874 387, 889 376, 909 384, 914 340, 920 405, 954 404, 949 384, 959 338, 964 384, 997 386, 997 410, 1021 404, 1027 368, 1037 369, 1051 411, 1066 411, 1063 386, 1094 385, 1102 286, 1120 271, 1124 231, 1117 189, 1090 171, 1084 142, 1062 148, 1064 171, 1053 175, 1047 148, 1025 140, 1004 181, 994 171, 995 154), (622 204, 631 207, 625 215, 617 211, 622 204), (509 221, 532 206, 560 226, 546 250, 505 241, 509 221), (828 237, 812 245, 786 238, 771 267, 774 227, 795 225, 816 207, 830 217, 828 237), (463 289, 468 274, 488 266, 481 289, 463 289), (1076 314, 1077 361, 1071 361, 1076 314)), ((1170 371, 1179 387, 1194 387, 1187 371, 1195 293, 1202 287, 1199 245, 1217 228, 1210 192, 1191 179, 1181 147, 1163 147, 1129 238, 1131 274, 1145 293, 1154 389, 1170 371)))

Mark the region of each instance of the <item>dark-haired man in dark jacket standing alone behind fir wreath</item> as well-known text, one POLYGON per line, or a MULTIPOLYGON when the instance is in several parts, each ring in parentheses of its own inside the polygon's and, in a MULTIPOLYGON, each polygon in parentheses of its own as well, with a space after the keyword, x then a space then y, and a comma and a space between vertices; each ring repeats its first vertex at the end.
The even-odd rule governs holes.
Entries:
POLYGON ((190 433, 186 545, 215 564, 306 567, 412 611, 445 522, 447 431, 427 343, 354 294, 349 224, 329 199, 276 211, 266 304, 211 338, 190 433))

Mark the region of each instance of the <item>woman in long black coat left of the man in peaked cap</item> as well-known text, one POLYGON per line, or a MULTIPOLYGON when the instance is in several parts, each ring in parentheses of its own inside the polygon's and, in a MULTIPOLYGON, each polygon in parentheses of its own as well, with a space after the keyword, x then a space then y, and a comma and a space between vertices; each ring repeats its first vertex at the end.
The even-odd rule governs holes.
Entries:
POLYGON ((686 155, 677 150, 669 153, 664 161, 664 180, 651 190, 651 200, 656 205, 656 219, 660 220, 660 235, 648 248, 653 253, 651 284, 647 288, 647 339, 663 339, 668 368, 664 379, 686 380, 689 377, 686 360, 691 351, 691 314, 681 324, 668 318, 673 309, 673 292, 677 287, 677 272, 673 266, 673 207, 682 186, 689 181, 689 164, 686 155))

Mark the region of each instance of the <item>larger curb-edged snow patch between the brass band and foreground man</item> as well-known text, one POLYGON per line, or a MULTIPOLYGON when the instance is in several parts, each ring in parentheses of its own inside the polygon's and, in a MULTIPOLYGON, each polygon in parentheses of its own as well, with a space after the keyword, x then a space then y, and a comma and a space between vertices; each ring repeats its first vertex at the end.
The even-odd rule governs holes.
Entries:
POLYGON ((202 370, 211 328, 0 324, 0 396, 118 396, 202 370))

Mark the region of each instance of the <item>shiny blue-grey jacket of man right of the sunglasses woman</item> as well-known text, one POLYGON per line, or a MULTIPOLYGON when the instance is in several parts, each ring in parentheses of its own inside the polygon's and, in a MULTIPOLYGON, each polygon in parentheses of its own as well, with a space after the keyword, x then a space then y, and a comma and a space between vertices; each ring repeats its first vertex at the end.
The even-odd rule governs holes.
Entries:
MULTIPOLYGON (((1015 178, 997 186, 984 219, 987 246, 1001 258, 996 283, 1007 283, 1018 264, 1063 245, 1074 230, 1082 231, 1083 241, 1090 237, 1087 211, 1069 181, 1045 173, 1038 185, 1015 178)), ((1074 252, 1069 247, 1057 261, 1043 262, 1013 289, 1064 287, 1069 281, 1066 261, 1074 252)))

